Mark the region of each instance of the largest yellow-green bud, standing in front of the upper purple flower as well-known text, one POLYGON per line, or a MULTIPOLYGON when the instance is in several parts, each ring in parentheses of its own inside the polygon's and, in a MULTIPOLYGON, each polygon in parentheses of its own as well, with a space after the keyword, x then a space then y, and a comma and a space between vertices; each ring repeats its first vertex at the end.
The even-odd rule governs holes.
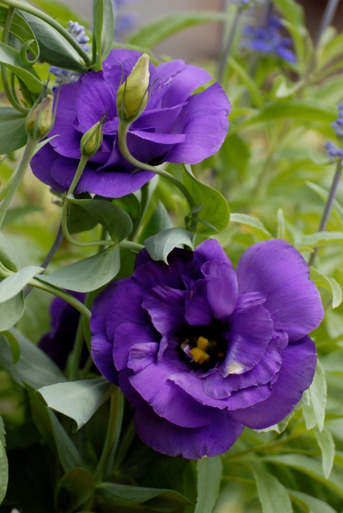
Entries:
POLYGON ((126 81, 117 91, 117 112, 123 121, 134 121, 148 102, 149 55, 139 57, 126 81))

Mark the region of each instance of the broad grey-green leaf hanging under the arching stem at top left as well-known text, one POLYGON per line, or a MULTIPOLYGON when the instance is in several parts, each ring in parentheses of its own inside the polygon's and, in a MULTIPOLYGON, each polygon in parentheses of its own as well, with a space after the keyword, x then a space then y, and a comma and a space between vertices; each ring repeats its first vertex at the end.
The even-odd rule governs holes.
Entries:
POLYGON ((77 51, 49 23, 28 12, 21 11, 20 14, 29 24, 36 37, 42 61, 52 66, 71 69, 80 73, 87 71, 88 68, 83 64, 77 51))

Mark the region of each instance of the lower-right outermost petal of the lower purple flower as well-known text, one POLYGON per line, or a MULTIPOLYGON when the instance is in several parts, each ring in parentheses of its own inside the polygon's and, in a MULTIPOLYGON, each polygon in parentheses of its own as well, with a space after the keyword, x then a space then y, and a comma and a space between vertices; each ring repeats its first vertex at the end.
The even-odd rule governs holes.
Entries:
POLYGON ((289 344, 281 352, 282 364, 273 393, 252 408, 231 412, 234 419, 252 429, 264 429, 277 424, 291 413, 302 392, 312 383, 317 363, 316 348, 310 337, 289 344))

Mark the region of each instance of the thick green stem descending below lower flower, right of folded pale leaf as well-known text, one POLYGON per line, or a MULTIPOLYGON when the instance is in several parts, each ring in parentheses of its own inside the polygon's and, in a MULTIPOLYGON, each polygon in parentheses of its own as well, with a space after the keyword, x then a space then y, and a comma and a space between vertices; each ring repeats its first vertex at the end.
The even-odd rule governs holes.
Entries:
POLYGON ((103 480, 108 457, 114 457, 114 451, 118 444, 120 431, 122 430, 123 414, 123 394, 120 388, 116 388, 111 396, 110 416, 102 455, 94 472, 94 481, 97 483, 103 480))

